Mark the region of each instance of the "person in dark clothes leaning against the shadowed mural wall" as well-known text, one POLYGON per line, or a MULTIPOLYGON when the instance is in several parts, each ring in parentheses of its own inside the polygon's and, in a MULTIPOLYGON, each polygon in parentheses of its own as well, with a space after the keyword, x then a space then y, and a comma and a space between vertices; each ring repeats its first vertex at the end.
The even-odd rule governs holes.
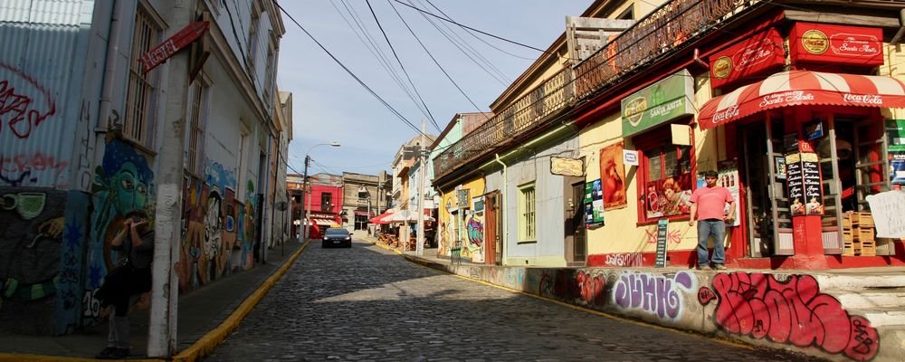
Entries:
POLYGON ((142 293, 151 290, 154 231, 148 225, 148 217, 140 212, 127 215, 123 229, 110 245, 111 250, 118 252, 117 267, 107 273, 98 291, 101 308, 110 314, 107 348, 95 357, 121 359, 130 354, 129 307, 142 293))

